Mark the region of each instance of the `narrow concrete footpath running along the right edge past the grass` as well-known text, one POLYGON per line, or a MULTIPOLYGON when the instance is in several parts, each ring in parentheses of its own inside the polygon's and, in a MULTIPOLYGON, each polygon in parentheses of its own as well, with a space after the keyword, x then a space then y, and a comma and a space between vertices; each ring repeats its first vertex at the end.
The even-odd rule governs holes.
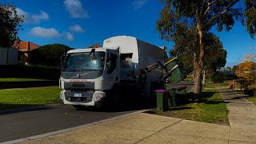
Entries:
POLYGON ((216 86, 229 110, 230 138, 256 143, 256 106, 245 95, 237 94, 226 87, 216 86), (237 135, 240 135, 237 137, 237 135))

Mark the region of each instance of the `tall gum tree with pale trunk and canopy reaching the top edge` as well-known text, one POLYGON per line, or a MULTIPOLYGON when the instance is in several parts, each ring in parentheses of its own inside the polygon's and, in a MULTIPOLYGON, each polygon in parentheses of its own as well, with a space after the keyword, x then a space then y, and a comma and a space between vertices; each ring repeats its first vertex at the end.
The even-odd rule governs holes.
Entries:
MULTIPOLYGON (((160 0, 164 3, 156 29, 160 38, 175 42, 182 24, 191 30, 190 45, 194 47, 194 74, 196 94, 202 92, 202 70, 206 54, 206 34, 215 26, 218 31, 230 30, 236 20, 241 20, 250 36, 256 33, 256 1, 255 0, 160 0), (244 2, 244 3, 242 3, 244 2), (245 21, 244 21, 245 20, 245 21)), ((186 34, 185 31, 184 34, 186 34)), ((217 50, 215 50, 217 51, 217 50)), ((225 51, 221 54, 225 55, 225 51)), ((221 60, 223 61, 223 60, 221 60)))

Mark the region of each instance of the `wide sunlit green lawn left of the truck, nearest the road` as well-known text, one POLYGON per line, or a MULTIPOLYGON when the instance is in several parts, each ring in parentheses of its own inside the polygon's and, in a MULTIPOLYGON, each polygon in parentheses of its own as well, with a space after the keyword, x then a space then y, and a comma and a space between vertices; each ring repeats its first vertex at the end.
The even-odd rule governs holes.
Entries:
POLYGON ((0 90, 0 110, 59 102, 58 86, 0 90))

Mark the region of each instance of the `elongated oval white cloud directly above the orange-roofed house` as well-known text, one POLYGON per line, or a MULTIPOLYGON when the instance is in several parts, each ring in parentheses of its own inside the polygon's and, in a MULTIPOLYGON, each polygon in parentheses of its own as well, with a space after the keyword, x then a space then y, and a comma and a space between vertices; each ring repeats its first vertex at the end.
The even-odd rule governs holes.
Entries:
POLYGON ((44 28, 41 26, 36 26, 33 29, 31 29, 30 34, 32 34, 35 37, 40 37, 40 38, 58 38, 58 37, 60 37, 58 30, 56 30, 54 28, 44 28))

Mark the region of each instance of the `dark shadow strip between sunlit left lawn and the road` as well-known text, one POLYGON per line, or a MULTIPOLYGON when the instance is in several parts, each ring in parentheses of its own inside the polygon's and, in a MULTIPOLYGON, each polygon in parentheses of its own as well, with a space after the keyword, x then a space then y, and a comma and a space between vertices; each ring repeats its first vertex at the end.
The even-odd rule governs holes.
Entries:
POLYGON ((20 113, 26 111, 51 110, 53 106, 39 106, 29 104, 6 104, 0 103, 0 115, 20 113))

